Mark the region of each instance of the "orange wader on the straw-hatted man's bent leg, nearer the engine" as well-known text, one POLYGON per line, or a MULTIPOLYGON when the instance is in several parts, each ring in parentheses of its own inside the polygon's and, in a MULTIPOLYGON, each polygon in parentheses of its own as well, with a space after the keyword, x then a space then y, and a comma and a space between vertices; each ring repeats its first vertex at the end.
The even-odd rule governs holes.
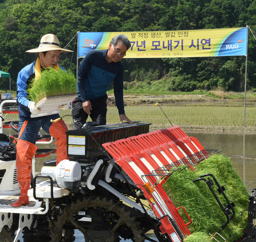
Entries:
POLYGON ((66 132, 68 131, 66 124, 62 119, 59 121, 52 123, 49 128, 50 135, 57 139, 55 144, 57 146, 57 162, 58 165, 61 161, 68 159, 67 158, 67 137, 66 132))

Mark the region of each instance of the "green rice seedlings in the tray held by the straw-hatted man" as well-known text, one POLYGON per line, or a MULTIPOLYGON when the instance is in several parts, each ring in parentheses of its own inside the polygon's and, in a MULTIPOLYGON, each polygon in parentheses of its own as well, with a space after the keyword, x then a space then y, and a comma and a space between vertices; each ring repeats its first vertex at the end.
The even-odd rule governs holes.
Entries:
POLYGON ((48 68, 41 72, 38 80, 33 79, 28 95, 37 103, 46 96, 73 94, 77 92, 77 81, 72 72, 48 68))

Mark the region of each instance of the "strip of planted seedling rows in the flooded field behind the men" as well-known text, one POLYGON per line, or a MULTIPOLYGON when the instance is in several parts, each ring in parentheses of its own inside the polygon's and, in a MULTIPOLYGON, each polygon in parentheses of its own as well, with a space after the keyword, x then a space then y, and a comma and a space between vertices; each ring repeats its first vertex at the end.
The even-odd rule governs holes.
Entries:
MULTIPOLYGON (((243 126, 244 107, 208 107, 208 106, 161 106, 173 125, 198 126, 243 126)), ((119 123, 116 107, 107 107, 107 122, 119 123)), ((126 106, 126 115, 131 120, 152 124, 169 124, 158 106, 126 106)), ((246 126, 256 126, 256 107, 246 107, 246 126)))

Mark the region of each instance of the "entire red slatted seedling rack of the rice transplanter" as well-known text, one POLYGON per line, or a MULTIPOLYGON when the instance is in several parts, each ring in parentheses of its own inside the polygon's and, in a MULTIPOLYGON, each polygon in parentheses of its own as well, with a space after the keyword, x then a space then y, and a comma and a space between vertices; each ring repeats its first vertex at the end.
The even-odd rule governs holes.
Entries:
POLYGON ((189 137, 178 126, 108 142, 103 147, 143 191, 144 197, 161 222, 159 228, 162 233, 167 233, 172 241, 173 233, 180 241, 181 237, 189 235, 189 215, 185 208, 175 207, 162 184, 174 167, 184 164, 193 169, 192 164, 210 156, 212 151, 207 153, 208 150, 195 137, 189 137), (154 188, 152 193, 143 186, 147 182, 154 188), (185 224, 182 220, 179 209, 184 210, 189 223, 185 224))

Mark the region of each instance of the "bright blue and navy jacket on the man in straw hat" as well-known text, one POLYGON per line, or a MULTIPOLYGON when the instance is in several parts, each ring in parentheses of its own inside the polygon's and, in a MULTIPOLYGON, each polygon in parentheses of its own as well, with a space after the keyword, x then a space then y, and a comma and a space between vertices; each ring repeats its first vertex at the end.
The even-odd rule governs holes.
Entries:
MULTIPOLYGON (((59 65, 59 67, 65 70, 63 67, 59 65)), ((31 112, 28 108, 28 103, 30 100, 28 99, 28 93, 26 90, 28 89, 28 85, 32 82, 32 79, 35 77, 35 61, 31 64, 25 66, 18 73, 17 78, 17 103, 18 103, 18 111, 19 118, 23 120, 38 120, 40 117, 31 118, 31 112)))

